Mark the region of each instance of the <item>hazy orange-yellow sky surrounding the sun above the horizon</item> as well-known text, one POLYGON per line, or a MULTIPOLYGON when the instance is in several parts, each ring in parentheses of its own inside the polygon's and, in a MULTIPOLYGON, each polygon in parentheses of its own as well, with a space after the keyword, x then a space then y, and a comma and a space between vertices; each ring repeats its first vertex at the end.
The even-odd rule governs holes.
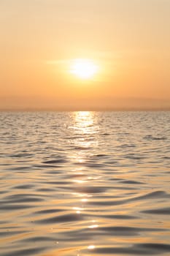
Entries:
POLYGON ((170 0, 0 0, 0 110, 122 109, 170 109, 170 0))

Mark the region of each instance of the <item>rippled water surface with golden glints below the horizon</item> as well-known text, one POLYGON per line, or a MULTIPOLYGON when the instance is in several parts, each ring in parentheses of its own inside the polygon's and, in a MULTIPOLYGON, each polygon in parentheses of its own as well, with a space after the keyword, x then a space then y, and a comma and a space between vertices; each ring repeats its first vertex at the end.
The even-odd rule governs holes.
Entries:
POLYGON ((170 255, 170 112, 0 120, 0 255, 170 255))

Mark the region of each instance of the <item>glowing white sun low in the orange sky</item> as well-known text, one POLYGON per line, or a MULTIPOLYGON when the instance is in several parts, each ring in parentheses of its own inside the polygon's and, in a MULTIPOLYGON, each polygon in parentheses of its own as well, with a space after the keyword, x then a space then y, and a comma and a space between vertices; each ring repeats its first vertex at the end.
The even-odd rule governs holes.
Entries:
POLYGON ((70 72, 81 79, 90 79, 98 72, 98 65, 90 59, 74 59, 70 72))

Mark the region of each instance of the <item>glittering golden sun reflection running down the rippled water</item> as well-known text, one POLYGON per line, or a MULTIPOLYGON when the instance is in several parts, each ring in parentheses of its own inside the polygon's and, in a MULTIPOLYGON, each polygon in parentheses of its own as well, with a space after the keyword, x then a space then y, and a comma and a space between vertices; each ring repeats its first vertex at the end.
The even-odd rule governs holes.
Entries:
MULTIPOLYGON (((72 139, 70 143, 72 150, 70 157, 73 163, 75 191, 72 195, 80 197, 80 200, 72 208, 74 214, 83 215, 90 208, 87 206, 91 197, 93 197, 94 182, 98 179, 94 173, 87 173, 88 165, 93 164, 91 157, 98 151, 98 118, 97 114, 89 111, 80 111, 72 113, 72 139)), ((96 220, 89 219, 83 223, 89 230, 98 228, 96 220)), ((93 242, 93 241, 91 241, 93 242)), ((94 245, 87 245, 88 250, 96 248, 94 245)))

